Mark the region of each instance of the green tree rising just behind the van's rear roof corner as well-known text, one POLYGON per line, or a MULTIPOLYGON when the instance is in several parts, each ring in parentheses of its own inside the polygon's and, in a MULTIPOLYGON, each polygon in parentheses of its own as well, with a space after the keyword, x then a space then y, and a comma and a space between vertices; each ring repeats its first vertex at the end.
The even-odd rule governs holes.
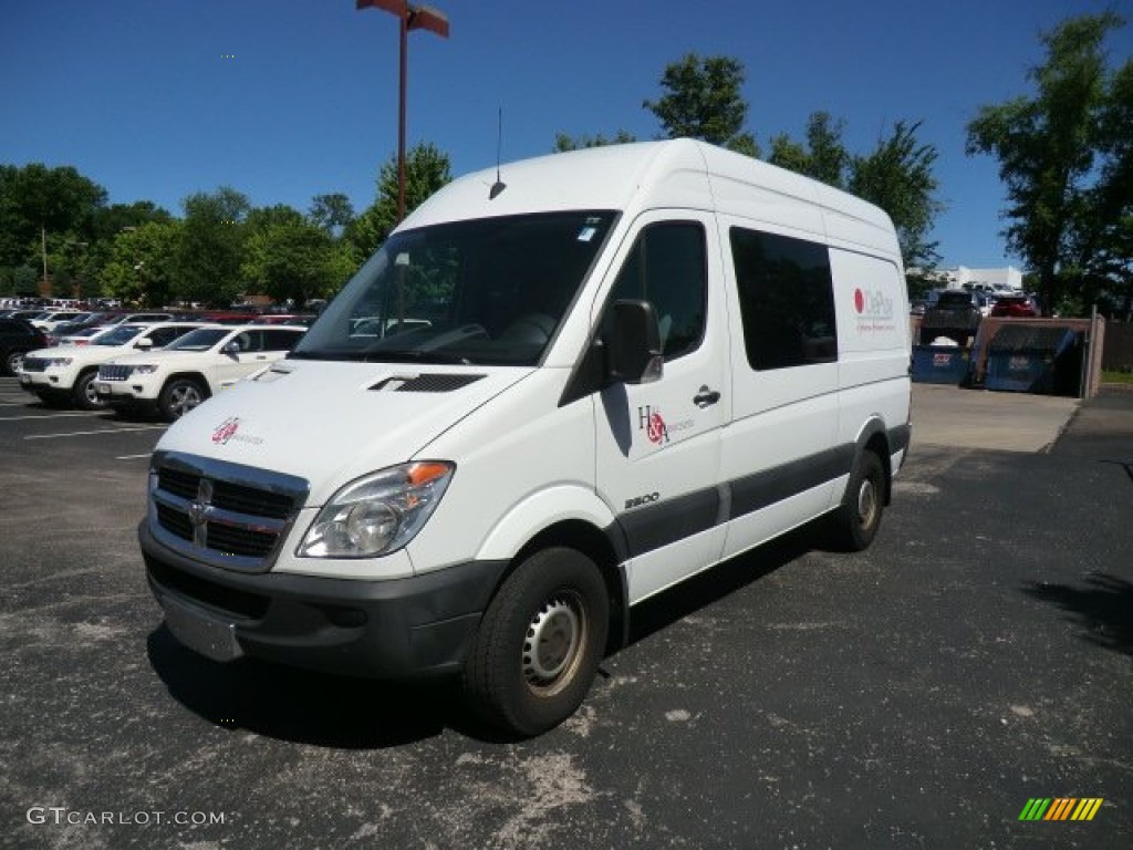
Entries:
POLYGON ((932 172, 937 150, 917 139, 920 122, 897 121, 867 156, 850 162, 847 189, 885 210, 897 231, 906 269, 931 269, 940 260, 929 241, 937 214, 939 186, 932 172))

